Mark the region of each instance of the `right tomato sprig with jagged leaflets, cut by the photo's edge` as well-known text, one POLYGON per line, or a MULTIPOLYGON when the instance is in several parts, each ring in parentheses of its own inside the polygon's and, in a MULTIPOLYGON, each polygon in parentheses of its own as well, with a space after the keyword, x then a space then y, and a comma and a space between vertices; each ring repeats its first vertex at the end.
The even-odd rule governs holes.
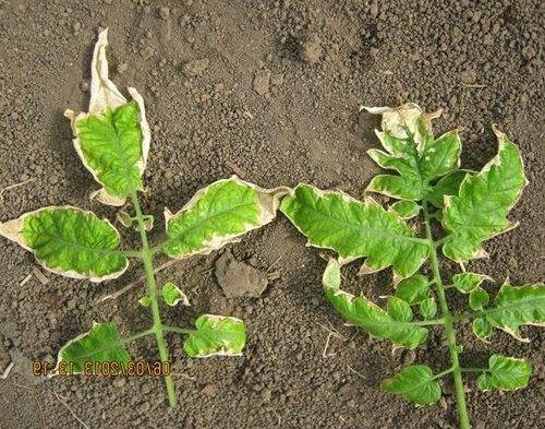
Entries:
POLYGON ((450 368, 434 372, 425 365, 410 366, 384 381, 383 388, 422 406, 439 401, 439 379, 452 377, 460 427, 469 428, 462 373, 476 372, 483 391, 516 390, 526 385, 532 366, 501 355, 493 355, 487 368, 462 366, 463 349, 456 339, 455 323, 472 321, 474 334, 483 341, 494 329, 524 341, 521 325, 545 322, 543 284, 511 286, 506 281, 489 305, 481 284, 491 278, 465 272, 463 265, 487 257, 483 242, 517 225, 507 215, 528 183, 522 159, 518 147, 494 128, 499 145, 496 157, 480 172, 463 170, 458 132, 439 138, 432 133, 431 121, 440 111, 426 115, 414 104, 367 110, 382 115, 382 130, 376 134, 385 150, 373 148, 368 154, 380 167, 395 171, 376 176, 367 191, 398 201, 385 210, 371 198, 362 202, 342 192, 300 184, 282 200, 280 211, 308 238, 308 245, 339 254, 338 260, 329 261, 323 284, 328 301, 349 324, 410 349, 426 341, 428 326, 443 326, 450 368), (417 215, 423 217, 423 236, 404 221, 417 215), (434 234, 433 222, 440 223, 441 237, 434 234), (439 248, 462 270, 449 284, 440 274, 439 248), (396 289, 386 309, 341 290, 340 266, 359 258, 365 258, 361 274, 392 266, 396 289), (431 278, 417 273, 426 261, 431 278), (468 294, 471 310, 452 314, 447 291, 468 294), (420 320, 414 320, 414 307, 420 320))

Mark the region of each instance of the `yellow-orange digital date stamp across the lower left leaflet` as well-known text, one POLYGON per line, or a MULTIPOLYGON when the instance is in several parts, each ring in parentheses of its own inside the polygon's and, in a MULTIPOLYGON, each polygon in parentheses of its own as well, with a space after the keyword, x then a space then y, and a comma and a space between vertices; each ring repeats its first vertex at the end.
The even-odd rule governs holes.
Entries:
POLYGON ((35 377, 49 376, 51 372, 58 376, 89 376, 89 377, 166 377, 170 376, 170 362, 130 360, 128 362, 118 362, 114 360, 86 361, 83 364, 64 362, 57 365, 35 360, 32 362, 32 373, 35 377))

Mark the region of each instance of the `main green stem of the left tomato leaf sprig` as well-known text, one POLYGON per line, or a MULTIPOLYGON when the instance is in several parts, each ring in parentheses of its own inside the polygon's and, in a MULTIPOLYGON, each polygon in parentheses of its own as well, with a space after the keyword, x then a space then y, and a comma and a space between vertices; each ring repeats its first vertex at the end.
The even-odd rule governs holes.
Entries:
MULTIPOLYGON (((165 339, 165 333, 162 330, 161 314, 159 312, 159 302, 157 301, 157 285, 155 283, 155 274, 154 274, 154 253, 149 248, 149 243, 147 241, 146 229, 144 228, 144 215, 142 214, 142 210, 140 207, 138 196, 136 192, 131 194, 131 200, 134 206, 134 211, 136 212, 136 219, 138 221, 138 229, 142 239, 142 260, 144 262, 144 270, 146 273, 146 285, 147 285, 147 294, 149 299, 152 300, 152 317, 154 320, 154 324, 152 325, 152 331, 155 333, 155 338, 157 339, 157 347, 159 348, 159 357, 161 362, 169 361, 169 353, 167 341, 165 339)), ((174 392, 174 380, 172 376, 165 377, 165 384, 167 386, 167 394, 169 397, 169 405, 173 408, 177 406, 177 397, 174 392)))

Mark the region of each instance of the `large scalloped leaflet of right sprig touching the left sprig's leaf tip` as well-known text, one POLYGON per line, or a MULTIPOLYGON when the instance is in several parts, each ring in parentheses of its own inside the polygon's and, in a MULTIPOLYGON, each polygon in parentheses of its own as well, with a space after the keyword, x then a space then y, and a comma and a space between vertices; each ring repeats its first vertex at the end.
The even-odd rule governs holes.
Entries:
POLYGON ((397 276, 407 277, 429 252, 425 240, 373 200, 362 203, 341 192, 299 184, 282 200, 280 211, 310 245, 332 249, 343 261, 366 257, 362 273, 392 265, 397 276))

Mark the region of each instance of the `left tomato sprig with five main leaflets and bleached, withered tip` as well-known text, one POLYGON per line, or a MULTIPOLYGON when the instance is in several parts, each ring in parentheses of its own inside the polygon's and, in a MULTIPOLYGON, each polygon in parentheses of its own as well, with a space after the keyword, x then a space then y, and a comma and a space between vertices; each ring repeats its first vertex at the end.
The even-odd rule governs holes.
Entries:
MULTIPOLYGON (((195 326, 179 327, 161 321, 159 297, 168 306, 189 305, 187 297, 172 283, 159 290, 154 273, 154 257, 165 253, 183 259, 207 254, 243 234, 258 228, 276 216, 284 188, 261 189, 235 177, 218 180, 199 190, 178 213, 165 211, 167 238, 152 246, 147 230, 153 216, 142 212, 137 193, 143 191, 142 175, 149 151, 150 132, 142 96, 130 87, 132 100, 108 79, 107 31, 98 36, 92 62, 88 112, 66 110, 75 135, 74 147, 101 189, 92 198, 122 206, 129 200, 134 213, 118 213, 124 226, 133 223, 140 231, 142 248, 120 249, 120 234, 107 219, 72 206, 49 206, 0 224, 0 234, 33 252, 47 270, 74 278, 102 282, 125 272, 130 259, 144 264, 146 296, 140 303, 152 310, 149 329, 121 337, 112 322, 94 323, 90 331, 69 341, 59 351, 53 373, 71 368, 82 373, 89 365, 114 364, 126 368, 131 358, 125 346, 143 336, 154 335, 162 364, 169 360, 166 333, 186 335, 183 348, 191 357, 239 355, 245 345, 245 329, 232 317, 203 314, 195 326)), ((177 405, 174 383, 165 378, 170 406, 177 405)))

